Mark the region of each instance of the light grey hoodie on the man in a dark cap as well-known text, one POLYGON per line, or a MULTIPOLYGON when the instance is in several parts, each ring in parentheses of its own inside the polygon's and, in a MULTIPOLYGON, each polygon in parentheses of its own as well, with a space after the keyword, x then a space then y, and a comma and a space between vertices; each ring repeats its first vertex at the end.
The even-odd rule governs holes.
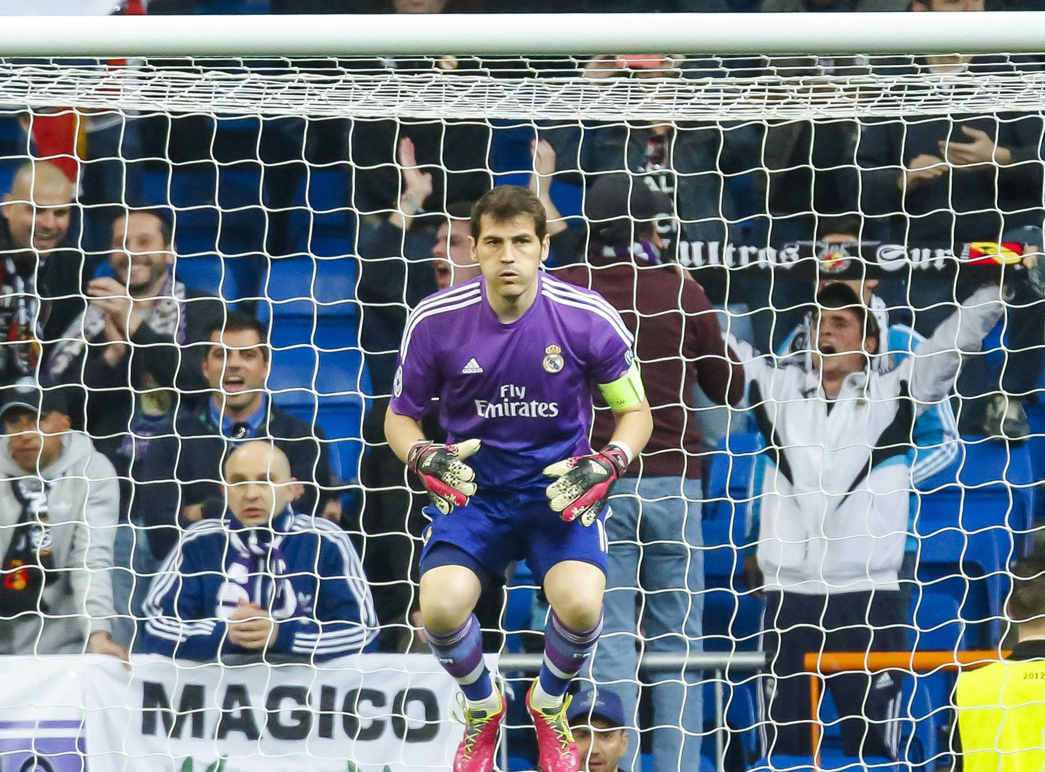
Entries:
MULTIPOLYGON (((21 614, 0 622, 0 654, 80 653, 90 633, 111 630, 119 482, 87 435, 71 431, 63 445, 59 459, 40 473, 50 486, 48 530, 55 568, 43 592, 48 612, 43 619, 21 614)), ((22 514, 9 481, 26 476, 34 475, 14 462, 8 438, 0 438, 0 558, 22 514)))

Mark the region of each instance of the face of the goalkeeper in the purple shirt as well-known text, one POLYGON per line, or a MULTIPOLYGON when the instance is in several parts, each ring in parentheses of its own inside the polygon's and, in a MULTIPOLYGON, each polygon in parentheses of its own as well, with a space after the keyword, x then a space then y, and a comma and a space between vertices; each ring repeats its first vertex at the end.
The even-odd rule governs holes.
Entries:
POLYGON ((549 244, 548 236, 537 238, 529 215, 501 221, 484 215, 479 239, 471 239, 471 252, 486 279, 487 290, 514 302, 535 290, 537 272, 548 258, 549 244))

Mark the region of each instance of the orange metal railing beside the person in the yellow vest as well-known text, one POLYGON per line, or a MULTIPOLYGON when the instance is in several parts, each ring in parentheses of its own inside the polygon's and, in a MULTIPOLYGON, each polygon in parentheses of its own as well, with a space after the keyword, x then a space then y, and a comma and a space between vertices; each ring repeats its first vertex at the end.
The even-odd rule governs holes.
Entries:
MULTIPOLYGON (((1008 652, 1001 652, 1007 657, 1008 652)), ((998 661, 998 652, 991 650, 952 652, 818 652, 806 655, 805 669, 809 673, 809 699, 812 708, 813 757, 820 763, 820 679, 827 673, 878 673, 902 670, 919 673, 935 670, 972 670, 998 661)), ((771 662, 770 662, 771 666, 771 662)))

